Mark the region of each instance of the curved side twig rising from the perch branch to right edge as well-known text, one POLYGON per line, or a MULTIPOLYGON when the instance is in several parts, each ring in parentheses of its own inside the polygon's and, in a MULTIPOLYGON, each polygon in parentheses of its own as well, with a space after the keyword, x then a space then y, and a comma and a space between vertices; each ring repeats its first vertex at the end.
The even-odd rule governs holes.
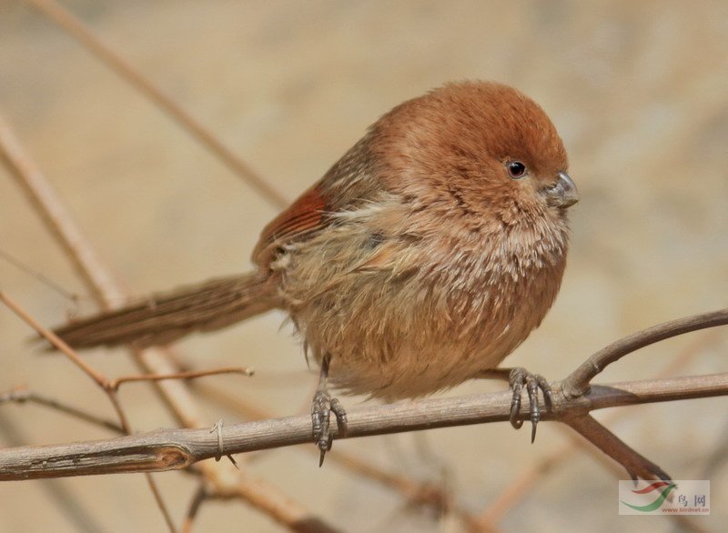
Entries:
POLYGON ((642 331, 628 337, 622 337, 611 345, 603 347, 589 357, 571 373, 571 376, 563 380, 561 389, 569 397, 578 397, 589 386, 591 379, 602 372, 604 368, 633 351, 666 338, 676 337, 707 327, 725 326, 726 324, 728 324, 728 308, 711 313, 701 313, 692 317, 678 318, 642 329, 642 331))

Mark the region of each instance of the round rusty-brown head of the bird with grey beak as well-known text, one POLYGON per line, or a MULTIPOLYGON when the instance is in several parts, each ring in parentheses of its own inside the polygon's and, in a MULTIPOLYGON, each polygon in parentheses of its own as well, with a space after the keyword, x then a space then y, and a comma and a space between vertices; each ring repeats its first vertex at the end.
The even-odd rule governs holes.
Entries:
POLYGON ((561 137, 528 96, 507 85, 444 85, 372 126, 390 190, 470 225, 565 219, 579 200, 561 137))

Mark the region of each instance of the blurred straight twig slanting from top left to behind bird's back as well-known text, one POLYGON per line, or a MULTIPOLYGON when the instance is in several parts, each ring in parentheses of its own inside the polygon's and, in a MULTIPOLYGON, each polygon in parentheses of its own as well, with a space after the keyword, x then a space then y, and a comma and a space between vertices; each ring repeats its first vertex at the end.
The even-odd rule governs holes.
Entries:
POLYGON ((54 0, 25 0, 25 2, 35 6, 43 15, 63 28, 68 35, 74 37, 86 50, 96 55, 96 58, 116 72, 117 75, 120 75, 127 83, 136 87, 144 96, 147 96, 162 111, 177 121, 177 124, 182 126, 197 142, 205 146, 243 181, 255 189, 260 196, 263 196, 271 206, 282 209, 288 205, 286 197, 281 195, 276 188, 270 186, 265 179, 258 176, 240 157, 223 145, 207 127, 202 126, 195 117, 187 113, 162 89, 149 81, 147 77, 142 75, 121 55, 117 54, 109 45, 106 45, 88 26, 68 12, 62 5, 54 0))

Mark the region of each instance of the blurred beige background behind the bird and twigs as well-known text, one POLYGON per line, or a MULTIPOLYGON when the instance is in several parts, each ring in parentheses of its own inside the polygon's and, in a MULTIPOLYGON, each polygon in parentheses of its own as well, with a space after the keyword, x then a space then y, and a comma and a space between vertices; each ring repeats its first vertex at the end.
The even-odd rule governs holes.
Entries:
MULTIPOLYGON (((448 80, 515 85, 547 110, 581 190, 570 263, 556 306, 509 358, 564 377, 606 343, 728 299, 728 3, 66 1, 87 25, 209 126, 292 199, 379 115, 448 80)), ((136 295, 248 268, 276 214, 226 166, 105 65, 17 0, 0 0, 0 114, 136 295)), ((0 248, 85 295, 15 181, 0 166, 0 248)), ((5 261, 0 287, 46 325, 73 305, 5 261)), ((94 307, 87 299, 82 310, 94 307)), ((206 383, 283 416, 306 409, 314 381, 280 315, 181 343, 199 367, 245 364, 252 379, 206 383)), ((106 398, 60 357, 26 344, 0 309, 0 391, 18 384, 112 416, 106 398)), ((728 331, 664 342, 600 381, 649 378, 683 350, 680 374, 726 371, 728 331)), ((110 376, 135 371, 123 352, 88 360, 110 376)), ((450 392, 495 390, 471 383, 450 392)), ((122 400, 142 431, 174 421, 144 385, 122 400)), ((359 403, 345 398, 345 405, 359 403)), ((708 531, 728 518, 727 398, 629 407, 610 427, 674 478, 712 480, 708 531), (723 449, 723 452, 721 452, 723 449), (713 461, 713 462, 712 462, 713 461), (709 471, 706 472, 706 468, 709 471)), ((207 406, 210 426, 241 418, 207 406)), ((598 414, 603 417, 603 413, 598 414)), ((479 513, 567 440, 542 424, 535 445, 506 424, 339 442, 412 478, 445 484, 479 513), (422 451, 426 448, 427 452, 422 451)), ((40 407, 0 407, 0 446, 108 437, 40 407)), ((452 518, 308 448, 256 456, 249 468, 347 531, 457 531, 452 518)), ((156 476, 177 522, 196 488, 156 476)), ((586 453, 533 482, 503 531, 673 531, 659 517, 617 516, 617 482, 586 453)), ((0 485, 0 531, 164 530, 141 476, 0 485), (64 498, 71 504, 62 505, 64 498)), ((202 508, 196 531, 278 531, 237 502, 202 508)))

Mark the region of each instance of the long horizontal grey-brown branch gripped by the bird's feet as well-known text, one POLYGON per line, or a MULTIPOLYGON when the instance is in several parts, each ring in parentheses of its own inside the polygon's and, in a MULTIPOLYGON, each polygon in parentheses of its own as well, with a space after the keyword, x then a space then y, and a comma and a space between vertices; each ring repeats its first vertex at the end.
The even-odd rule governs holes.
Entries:
MULTIPOLYGON (((595 385, 582 397, 555 395, 554 410, 544 412, 543 418, 571 421, 593 409, 726 395, 728 373, 595 385)), ((510 413, 510 391, 359 407, 349 410, 346 437, 506 421, 510 413)), ((527 414, 526 407, 522 414, 527 414)), ((309 443, 310 426, 307 416, 226 426, 225 453, 309 443)), ((331 430, 336 437, 337 428, 331 430)), ((8 448, 0 450, 0 480, 187 468, 216 457, 219 451, 217 436, 210 434, 208 428, 167 429, 67 445, 8 448)))

